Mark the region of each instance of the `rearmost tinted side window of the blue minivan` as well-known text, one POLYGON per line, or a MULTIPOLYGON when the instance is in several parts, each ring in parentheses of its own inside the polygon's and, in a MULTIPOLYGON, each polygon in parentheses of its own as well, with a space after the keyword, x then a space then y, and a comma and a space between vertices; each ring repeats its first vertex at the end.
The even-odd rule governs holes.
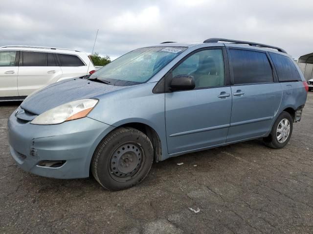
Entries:
POLYGON ((296 66, 289 57, 271 52, 269 56, 273 60, 279 81, 301 80, 296 66))

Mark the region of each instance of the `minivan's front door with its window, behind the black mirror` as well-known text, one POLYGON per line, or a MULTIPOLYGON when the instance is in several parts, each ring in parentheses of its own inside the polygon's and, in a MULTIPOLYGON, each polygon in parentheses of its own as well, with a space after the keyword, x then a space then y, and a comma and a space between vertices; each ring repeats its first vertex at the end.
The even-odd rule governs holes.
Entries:
POLYGON ((165 76, 167 84, 179 75, 191 75, 196 83, 193 90, 165 94, 169 154, 226 142, 232 97, 225 56, 222 47, 200 49, 186 56, 165 76))

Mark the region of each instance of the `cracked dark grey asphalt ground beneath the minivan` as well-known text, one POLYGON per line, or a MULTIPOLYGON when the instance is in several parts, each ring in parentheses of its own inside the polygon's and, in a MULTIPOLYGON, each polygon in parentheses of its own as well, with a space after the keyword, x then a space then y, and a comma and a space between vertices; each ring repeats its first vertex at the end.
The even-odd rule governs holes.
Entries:
POLYGON ((171 158, 119 192, 18 168, 6 125, 19 104, 0 103, 0 233, 313 233, 313 92, 284 149, 253 140, 171 158))

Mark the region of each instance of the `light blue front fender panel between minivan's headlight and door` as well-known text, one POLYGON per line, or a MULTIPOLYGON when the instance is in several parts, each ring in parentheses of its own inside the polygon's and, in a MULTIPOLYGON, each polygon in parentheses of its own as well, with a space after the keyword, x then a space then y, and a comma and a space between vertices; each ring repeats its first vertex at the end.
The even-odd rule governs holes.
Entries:
POLYGON ((165 94, 152 92, 156 83, 144 83, 117 90, 103 96, 89 114, 114 127, 124 124, 142 123, 157 133, 162 146, 162 159, 166 158, 167 143, 165 132, 165 94))

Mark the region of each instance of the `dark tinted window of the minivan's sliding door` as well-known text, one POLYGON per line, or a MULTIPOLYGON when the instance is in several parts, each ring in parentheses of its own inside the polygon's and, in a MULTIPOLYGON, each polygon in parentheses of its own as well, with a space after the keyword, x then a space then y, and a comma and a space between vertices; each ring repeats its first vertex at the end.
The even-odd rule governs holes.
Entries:
POLYGON ((234 84, 273 82, 273 73, 265 53, 230 49, 234 84))

